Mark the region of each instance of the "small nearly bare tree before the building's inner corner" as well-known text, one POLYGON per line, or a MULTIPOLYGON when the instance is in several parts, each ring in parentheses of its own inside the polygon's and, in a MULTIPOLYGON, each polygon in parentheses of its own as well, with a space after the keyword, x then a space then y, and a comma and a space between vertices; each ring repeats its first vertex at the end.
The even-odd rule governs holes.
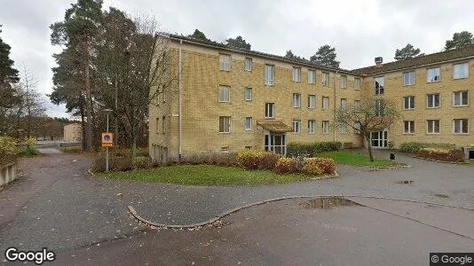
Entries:
POLYGON ((386 98, 370 97, 360 101, 360 105, 342 106, 336 110, 335 128, 349 127, 364 136, 368 155, 372 155, 371 132, 390 127, 401 114, 395 102, 386 98))

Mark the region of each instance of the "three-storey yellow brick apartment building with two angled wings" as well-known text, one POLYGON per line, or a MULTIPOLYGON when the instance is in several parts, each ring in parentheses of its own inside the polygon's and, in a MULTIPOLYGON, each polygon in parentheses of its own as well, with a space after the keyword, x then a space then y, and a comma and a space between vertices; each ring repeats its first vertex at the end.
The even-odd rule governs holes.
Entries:
POLYGON ((292 142, 361 146, 363 137, 353 129, 331 124, 336 108, 369 95, 396 100, 403 113, 390 129, 373 132, 375 147, 406 141, 474 145, 474 48, 349 71, 181 35, 159 37, 168 42, 170 74, 178 78, 150 106, 155 160, 244 148, 285 154, 292 142))

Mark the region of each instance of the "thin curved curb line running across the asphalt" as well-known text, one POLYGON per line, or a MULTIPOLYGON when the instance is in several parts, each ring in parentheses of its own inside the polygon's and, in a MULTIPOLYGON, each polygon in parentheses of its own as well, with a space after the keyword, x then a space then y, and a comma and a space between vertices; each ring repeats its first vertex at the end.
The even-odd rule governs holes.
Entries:
POLYGON ((293 200, 293 199, 309 199, 309 198, 327 198, 327 197, 341 197, 341 198, 364 198, 364 199, 376 199, 376 200, 398 200, 398 201, 405 201, 405 202, 413 202, 413 203, 420 203, 420 204, 430 204, 430 205, 435 205, 439 207, 454 207, 458 209, 463 209, 463 210, 470 210, 474 211, 474 208, 469 208, 469 207, 457 207, 457 206, 452 206, 452 205, 447 205, 447 204, 441 204, 441 203, 432 203, 432 202, 426 202, 426 201, 421 201, 421 200, 404 200, 404 199, 397 199, 397 198, 385 198, 385 197, 377 197, 377 196, 363 196, 363 195, 312 195, 312 196, 287 196, 287 197, 280 197, 280 198, 275 198, 271 200, 262 200, 262 201, 257 201, 254 203, 249 203, 246 205, 243 205, 241 207, 235 207, 229 211, 225 211, 224 213, 217 215, 213 218, 210 218, 209 220, 200 222, 200 223, 190 223, 190 224, 166 224, 166 223, 154 223, 152 221, 146 220, 142 216, 138 215, 137 211, 135 210, 134 207, 129 206, 129 211, 130 214, 138 220, 138 222, 145 223, 146 225, 151 225, 157 228, 162 228, 162 229, 193 229, 205 225, 209 225, 212 223, 216 223, 220 219, 224 218, 225 216, 232 215, 235 212, 238 212, 242 209, 249 208, 249 207, 255 207, 258 205, 262 205, 265 203, 270 203, 274 201, 279 201, 279 200, 293 200))

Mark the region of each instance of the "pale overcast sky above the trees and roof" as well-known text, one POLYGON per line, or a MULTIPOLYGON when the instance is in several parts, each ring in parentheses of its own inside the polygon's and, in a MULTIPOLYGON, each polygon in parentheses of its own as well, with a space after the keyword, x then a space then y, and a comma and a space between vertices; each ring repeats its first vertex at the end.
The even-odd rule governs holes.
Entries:
MULTIPOLYGON (((51 93, 49 26, 64 19, 75 0, 0 0, 0 24, 11 57, 21 71, 35 74, 37 90, 51 93)), ((374 58, 393 60, 394 51, 412 43, 425 53, 441 51, 454 32, 474 32, 474 2, 467 0, 106 0, 130 15, 154 15, 162 31, 188 35, 199 28, 224 42, 242 35, 252 50, 284 55, 292 50, 309 59, 323 44, 336 47, 341 67, 371 66, 374 58)), ((68 116, 63 106, 49 114, 68 116)))

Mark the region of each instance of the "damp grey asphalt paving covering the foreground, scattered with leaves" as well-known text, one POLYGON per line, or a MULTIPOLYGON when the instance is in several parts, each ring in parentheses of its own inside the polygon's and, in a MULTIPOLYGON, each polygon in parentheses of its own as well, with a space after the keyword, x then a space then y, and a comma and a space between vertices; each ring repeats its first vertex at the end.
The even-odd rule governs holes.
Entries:
POLYGON ((398 159, 413 168, 342 167, 334 180, 195 187, 100 179, 87 174, 87 157, 45 154, 21 161, 20 179, 0 190, 0 246, 45 246, 59 265, 427 265, 430 252, 474 250, 472 211, 405 201, 351 198, 361 205, 320 209, 284 200, 194 231, 152 230, 127 212, 131 205, 157 223, 195 223, 249 202, 309 194, 474 206, 473 168, 398 159))

